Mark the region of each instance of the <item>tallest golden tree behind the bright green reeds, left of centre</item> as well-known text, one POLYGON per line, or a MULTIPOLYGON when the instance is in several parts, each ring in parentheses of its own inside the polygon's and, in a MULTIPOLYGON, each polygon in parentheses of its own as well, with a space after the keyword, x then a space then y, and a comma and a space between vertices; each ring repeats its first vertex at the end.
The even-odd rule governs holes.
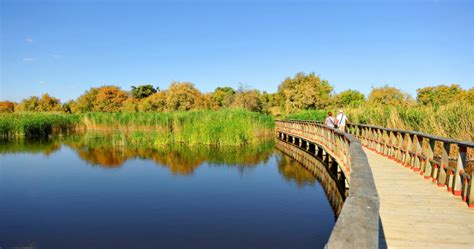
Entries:
POLYGON ((203 94, 190 82, 173 82, 168 88, 167 109, 188 111, 206 107, 203 94))

